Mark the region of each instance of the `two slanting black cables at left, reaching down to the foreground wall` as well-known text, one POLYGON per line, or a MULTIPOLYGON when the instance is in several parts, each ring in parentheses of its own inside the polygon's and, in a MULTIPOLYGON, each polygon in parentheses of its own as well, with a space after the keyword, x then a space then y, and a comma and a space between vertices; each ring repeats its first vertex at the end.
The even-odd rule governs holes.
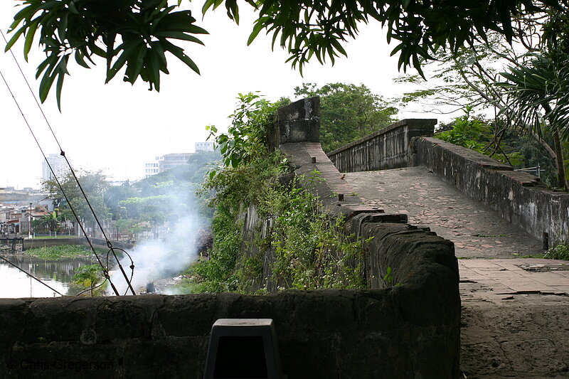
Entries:
MULTIPOLYGON (((4 38, 4 42, 5 42, 6 45, 7 45, 7 44, 8 44, 8 41, 6 40, 6 36, 4 36, 4 32, 0 30, 0 34, 1 34, 2 38, 4 38)), ((55 139, 55 142, 56 142, 56 143, 58 144, 58 146, 59 146, 60 155, 63 156, 63 158, 65 159, 65 162, 67 162, 67 165, 68 165, 68 167, 69 167, 69 169, 70 169, 70 171, 71 171, 71 174, 73 174, 73 178, 75 179, 75 182, 77 183, 77 185, 78 185, 78 187, 79 187, 81 193, 83 194, 83 198, 85 198, 85 201, 87 202, 87 205, 89 206, 89 209, 91 210, 91 213, 92 213, 93 217, 95 218, 95 221, 97 222, 97 225, 99 226, 99 229, 101 230, 102 235, 105 237, 105 242, 107 242, 107 247, 109 248, 110 252, 112 252, 113 257, 115 257, 115 260, 117 261, 117 265, 119 266, 119 269, 120 269, 120 271, 121 271, 121 273, 122 273, 122 276, 124 277, 124 280, 126 280, 126 282, 127 282, 127 284, 128 284, 128 289, 130 289, 130 291, 131 291, 132 294, 134 295, 134 294, 135 294, 135 293, 134 293, 134 289, 132 288, 132 284, 131 284, 131 282, 132 282, 132 277, 133 277, 133 275, 134 275, 134 262, 132 261, 132 257, 131 257, 131 256, 129 255, 129 253, 126 252, 125 250, 119 249, 119 250, 122 250, 122 251, 129 257, 129 260, 130 260, 130 262, 131 262, 131 265, 130 265, 130 267, 129 267, 129 268, 131 269, 131 275, 130 275, 130 279, 129 279, 129 277, 127 277, 127 273, 124 272, 124 267, 122 267, 122 265, 121 265, 121 263, 120 263, 120 260, 119 260, 119 258, 117 257, 117 254, 116 254, 116 252, 115 252, 115 247, 112 246, 112 242, 111 242, 111 241, 109 240, 109 238, 107 237, 107 233, 105 233, 105 229, 102 227, 102 225, 101 225, 101 223, 100 223, 100 221, 99 221, 99 218, 97 218, 97 213, 95 213, 95 210, 92 208, 92 205, 91 205, 91 203, 90 203, 90 201, 89 201, 89 198, 87 198, 87 194, 86 194, 85 191, 83 190, 83 186, 81 186, 81 183, 79 182, 78 177, 75 175, 75 171, 73 170, 73 167, 71 167, 71 164, 70 164, 69 160, 67 159, 67 156, 65 156, 65 151, 63 151, 63 148, 61 147, 61 144, 59 143, 58 137, 55 136, 55 132, 53 132, 53 128, 51 127, 51 124, 50 124, 50 122, 48 121, 48 118, 46 117, 46 114, 43 112, 43 108, 41 107, 40 103, 38 102, 38 98, 36 97, 36 94, 35 94, 35 93, 33 92, 33 90, 31 89, 31 85, 30 85, 30 83, 28 82, 28 80, 26 79, 26 75, 23 74, 23 70, 21 69, 21 66, 20 66, 20 64, 18 63, 18 60, 16 59, 16 55, 14 55, 14 53, 12 52, 12 50, 10 50, 10 53, 11 53, 11 55, 12 55, 12 58, 14 58, 14 62, 16 63, 16 66, 18 66, 18 70, 20 70, 20 73, 21 73, 21 75, 22 75, 23 80, 26 82, 26 85, 28 86, 28 90, 30 90, 30 92, 31 92, 31 95, 32 95, 32 97, 33 97, 33 100, 36 101, 36 105, 38 105, 38 108, 39 108, 39 110, 40 110, 40 112, 41 112, 41 114, 42 114, 42 116, 43 116, 43 119, 46 120, 46 124, 48 125, 48 128, 50 129, 50 132, 51 132, 51 134, 53 135, 53 139, 55 139)), ((12 94, 8 83, 6 82, 6 79, 4 79, 4 75, 2 75, 2 79, 4 80, 4 83, 6 83, 6 87, 8 87, 10 94, 11 94, 12 97, 14 98, 14 102, 16 102, 16 105, 18 106, 18 110, 20 110, 20 112, 21 112, 21 114, 22 114, 22 117, 24 117, 23 112, 22 112, 20 106, 18 105, 18 102, 16 101, 16 97, 14 97, 14 94, 12 94)), ((26 117, 24 117, 24 120, 26 120, 26 117)), ((30 129, 30 132, 32 133, 33 138, 36 139, 36 136, 33 134, 32 129, 31 129, 30 125, 28 124, 27 120, 26 120, 26 124, 28 125, 28 129, 30 129)), ((42 152, 42 154, 43 154, 43 150, 41 149, 41 146, 40 146, 40 144, 39 144, 39 142, 38 142, 37 139, 36 139, 36 143, 38 144, 38 147, 40 148, 40 150, 41 150, 41 152, 42 152)), ((43 158, 46 159, 46 162, 48 163, 48 166, 49 166, 49 168, 50 168, 50 171, 51 171, 52 174, 53 174, 53 177, 55 178, 55 181, 57 181, 58 186, 59 186, 61 192, 63 193, 63 196, 65 196, 65 191, 63 191, 63 187, 60 185, 60 183, 59 183, 57 177, 55 176, 55 172, 53 172, 53 169, 51 169, 51 165, 49 164, 48 159, 46 158, 46 154, 43 154, 43 158)), ((89 245, 90 245, 90 247, 91 247, 91 250, 93 251, 93 253, 94 253, 95 256, 97 257, 97 260, 99 260, 99 262, 100 262, 100 259, 99 259, 99 257, 97 256, 97 253, 95 252, 95 249, 92 247, 92 243, 90 242, 89 237, 87 237, 87 233, 85 233, 85 230, 83 229, 83 226, 81 225, 81 222, 80 222, 80 220, 79 220, 77 214, 75 213, 75 211, 74 211, 73 208, 71 207, 71 203, 70 203, 69 199, 67 198, 67 196, 65 196, 65 201, 68 202, 70 208, 71 208, 72 211, 73 211, 73 215, 75 216, 75 219, 77 220, 78 224, 80 225, 81 230, 83 230, 83 235, 85 235, 85 239, 87 239, 87 242, 89 243, 89 245)), ((108 252, 107 252, 107 256, 108 256, 108 252)), ((107 262, 108 262, 108 260, 107 260, 107 262)), ((100 262, 100 265, 101 265, 101 267, 102 267, 102 263, 101 263, 101 262, 100 262)), ((103 272, 105 273, 105 277, 108 278, 108 277, 109 277, 109 275, 108 275, 108 263, 107 263, 107 268, 106 268, 106 269, 103 267, 103 272)), ((110 281, 110 278, 109 278, 109 282, 110 282, 110 284, 111 284, 113 290, 115 291, 115 294, 117 294, 117 296, 119 296, 119 293, 117 292, 117 289, 115 289, 115 286, 114 286, 114 285, 112 284, 112 282, 110 281)), ((126 292, 125 292, 125 294, 126 294, 126 292)))

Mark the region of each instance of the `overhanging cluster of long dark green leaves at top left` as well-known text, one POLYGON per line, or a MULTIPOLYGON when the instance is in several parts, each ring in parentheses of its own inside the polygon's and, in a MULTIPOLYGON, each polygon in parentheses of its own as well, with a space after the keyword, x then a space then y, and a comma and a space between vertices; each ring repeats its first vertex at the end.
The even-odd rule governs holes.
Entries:
POLYGON ((93 55, 107 60, 106 82, 126 66, 123 80, 138 78, 160 90, 160 73, 168 73, 166 51, 199 74, 197 65, 184 49, 169 39, 203 43, 196 34, 208 33, 196 26, 191 11, 174 11, 166 0, 21 0, 22 9, 10 26, 6 50, 24 36, 26 61, 36 34, 46 59, 38 66, 40 100, 48 97, 53 83, 60 108, 61 90, 67 65, 73 55, 84 68, 95 64, 93 55), (38 33, 39 32, 39 33, 38 33), (116 41, 120 43, 115 47, 116 41))

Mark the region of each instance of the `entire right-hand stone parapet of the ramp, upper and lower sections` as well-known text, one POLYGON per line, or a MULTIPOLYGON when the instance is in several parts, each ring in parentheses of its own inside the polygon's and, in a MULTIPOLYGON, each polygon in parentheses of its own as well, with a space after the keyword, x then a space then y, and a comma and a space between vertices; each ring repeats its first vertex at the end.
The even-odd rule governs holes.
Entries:
POLYGON ((489 156, 430 138, 435 119, 404 119, 328 154, 341 172, 426 166, 553 247, 569 242, 569 194, 489 156))

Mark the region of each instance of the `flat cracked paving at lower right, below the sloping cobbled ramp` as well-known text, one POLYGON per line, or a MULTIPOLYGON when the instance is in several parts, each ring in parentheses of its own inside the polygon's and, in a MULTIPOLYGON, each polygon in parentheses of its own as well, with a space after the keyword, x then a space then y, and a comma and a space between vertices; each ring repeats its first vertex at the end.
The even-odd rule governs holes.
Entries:
POLYGON ((569 378, 569 262, 459 260, 468 379, 569 378))

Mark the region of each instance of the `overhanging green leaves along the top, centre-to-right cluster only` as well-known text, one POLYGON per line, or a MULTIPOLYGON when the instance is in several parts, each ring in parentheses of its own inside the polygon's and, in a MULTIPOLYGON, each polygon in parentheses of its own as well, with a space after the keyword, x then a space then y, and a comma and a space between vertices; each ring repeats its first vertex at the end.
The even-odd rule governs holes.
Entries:
MULTIPOLYGON (((399 54, 399 68, 413 66, 422 75, 421 63, 433 59, 431 53, 449 46, 457 51, 486 31, 497 31, 508 41, 515 37, 511 23, 521 14, 557 9, 554 0, 258 0, 246 1, 257 10, 248 43, 261 30, 272 33, 273 48, 278 44, 288 51, 293 68, 312 57, 332 64, 346 55, 344 43, 358 34, 358 24, 371 19, 387 28, 388 42, 396 41, 392 55, 399 54)), ((223 0, 207 0, 203 13, 216 9, 223 0)), ((238 21, 235 0, 225 0, 228 16, 238 21)), ((373 48, 373 47, 371 47, 373 48)))

